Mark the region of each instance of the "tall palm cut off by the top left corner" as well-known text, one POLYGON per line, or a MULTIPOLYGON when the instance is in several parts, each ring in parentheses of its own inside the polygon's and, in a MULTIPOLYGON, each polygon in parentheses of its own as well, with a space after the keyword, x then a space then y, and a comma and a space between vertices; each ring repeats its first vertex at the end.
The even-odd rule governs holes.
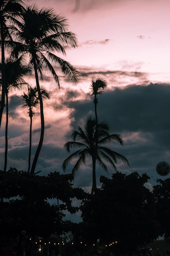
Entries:
POLYGON ((1 0, 0 1, 0 47, 1 47, 1 71, 2 71, 2 93, 0 105, 0 127, 2 121, 2 113, 5 103, 5 40, 11 40, 9 32, 9 22, 20 15, 23 11, 22 0, 1 0))

